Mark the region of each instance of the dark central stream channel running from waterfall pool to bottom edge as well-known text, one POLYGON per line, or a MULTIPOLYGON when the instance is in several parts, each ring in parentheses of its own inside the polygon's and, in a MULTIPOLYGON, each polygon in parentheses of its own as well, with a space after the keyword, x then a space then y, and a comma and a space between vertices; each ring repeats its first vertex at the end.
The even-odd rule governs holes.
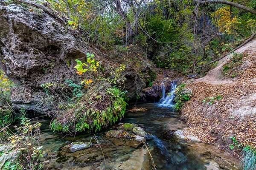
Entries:
POLYGON ((152 156, 160 170, 205 170, 204 162, 188 152, 185 145, 172 137, 174 130, 185 125, 177 119, 177 113, 171 107, 160 108, 157 104, 146 103, 137 107, 145 107, 148 111, 127 113, 122 122, 143 125, 153 139, 148 143, 154 148, 152 156))

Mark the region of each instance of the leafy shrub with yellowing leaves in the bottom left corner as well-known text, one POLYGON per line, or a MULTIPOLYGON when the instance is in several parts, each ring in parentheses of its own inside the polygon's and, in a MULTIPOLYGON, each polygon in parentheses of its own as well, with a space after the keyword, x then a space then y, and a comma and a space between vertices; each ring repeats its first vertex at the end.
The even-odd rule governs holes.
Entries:
POLYGON ((8 158, 0 167, 3 170, 41 170, 40 123, 31 124, 29 119, 22 117, 20 127, 15 126, 11 135, 8 128, 1 129, 0 147, 3 157, 8 158), (3 133, 2 133, 3 132, 3 133), (7 139, 7 140, 6 140, 7 139))

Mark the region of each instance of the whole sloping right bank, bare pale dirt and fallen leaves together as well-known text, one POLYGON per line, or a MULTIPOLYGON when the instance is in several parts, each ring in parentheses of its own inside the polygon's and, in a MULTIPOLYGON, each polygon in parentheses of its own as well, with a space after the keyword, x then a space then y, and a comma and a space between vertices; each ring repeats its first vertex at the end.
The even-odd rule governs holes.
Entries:
POLYGON ((222 73, 233 56, 230 54, 205 77, 186 85, 193 96, 181 111, 191 135, 225 150, 230 150, 232 136, 256 147, 256 39, 235 52, 243 53, 241 65, 231 70, 235 76, 222 73))

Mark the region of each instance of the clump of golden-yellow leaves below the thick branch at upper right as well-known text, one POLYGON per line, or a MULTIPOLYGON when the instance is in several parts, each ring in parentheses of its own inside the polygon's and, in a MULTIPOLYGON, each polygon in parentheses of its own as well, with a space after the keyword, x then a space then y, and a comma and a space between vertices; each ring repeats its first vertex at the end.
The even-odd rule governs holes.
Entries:
POLYGON ((239 23, 238 17, 230 17, 230 8, 222 7, 211 14, 221 32, 231 34, 232 30, 239 23))

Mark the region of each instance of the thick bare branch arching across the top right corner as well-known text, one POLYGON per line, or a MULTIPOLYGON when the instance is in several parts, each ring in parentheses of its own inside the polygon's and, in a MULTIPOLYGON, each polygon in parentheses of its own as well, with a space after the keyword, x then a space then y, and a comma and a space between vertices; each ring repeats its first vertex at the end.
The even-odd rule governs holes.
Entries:
MULTIPOLYGON (((199 0, 194 0, 194 1, 199 3, 199 0)), ((239 9, 243 9, 245 11, 248 11, 248 12, 252 13, 252 14, 256 14, 256 10, 253 9, 253 8, 241 5, 239 3, 230 2, 230 1, 227 1, 227 0, 204 0, 204 1, 201 1, 200 3, 201 4, 204 4, 204 3, 221 3, 221 4, 234 6, 234 7, 239 8, 239 9)))

